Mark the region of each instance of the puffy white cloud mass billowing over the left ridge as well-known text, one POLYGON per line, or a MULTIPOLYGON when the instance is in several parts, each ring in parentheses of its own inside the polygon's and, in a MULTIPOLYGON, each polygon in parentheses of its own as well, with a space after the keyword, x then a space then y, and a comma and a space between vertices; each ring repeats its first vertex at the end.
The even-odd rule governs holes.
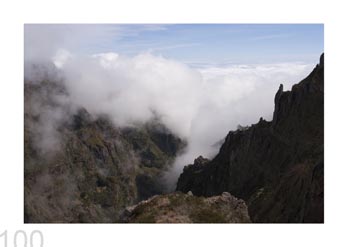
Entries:
POLYGON ((62 69, 73 101, 89 112, 108 114, 118 126, 147 122, 156 112, 176 134, 189 135, 203 81, 184 64, 108 53, 74 58, 62 69))

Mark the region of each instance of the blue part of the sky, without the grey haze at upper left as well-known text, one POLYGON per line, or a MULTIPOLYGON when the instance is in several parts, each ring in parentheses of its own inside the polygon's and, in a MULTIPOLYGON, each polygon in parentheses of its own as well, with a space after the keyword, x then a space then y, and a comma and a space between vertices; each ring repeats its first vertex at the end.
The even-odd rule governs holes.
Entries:
POLYGON ((92 39, 81 52, 152 52, 186 63, 314 63, 324 45, 322 24, 93 26, 109 33, 108 40, 92 39))

